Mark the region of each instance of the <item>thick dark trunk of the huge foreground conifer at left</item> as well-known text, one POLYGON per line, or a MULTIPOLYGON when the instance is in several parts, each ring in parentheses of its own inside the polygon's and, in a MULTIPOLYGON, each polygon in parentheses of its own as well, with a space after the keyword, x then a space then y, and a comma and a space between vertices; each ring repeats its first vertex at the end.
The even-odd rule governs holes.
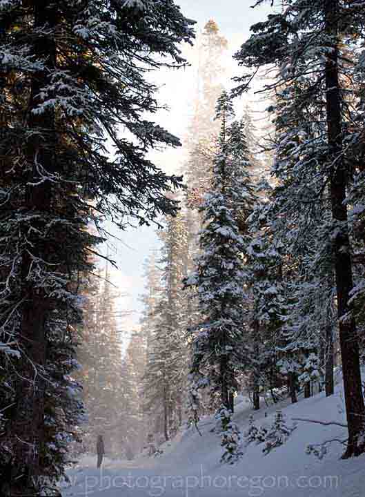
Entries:
MULTIPOLYGON (((56 25, 55 2, 34 0, 34 30, 52 30, 56 25)), ((46 364, 46 320, 50 311, 49 302, 41 288, 35 288, 32 278, 34 259, 47 261, 50 250, 41 236, 44 220, 50 212, 52 188, 49 181, 41 177, 55 172, 55 114, 52 110, 34 114, 41 88, 50 82, 50 72, 56 66, 55 41, 37 34, 33 44, 34 59, 45 61, 46 68, 34 72, 31 81, 27 126, 27 152, 30 173, 26 185, 25 205, 28 213, 34 214, 32 224, 24 228, 23 237, 29 240, 28 250, 23 253, 21 266, 22 297, 21 312, 21 362, 17 376, 17 411, 12 430, 17 440, 12 467, 12 494, 19 491, 37 491, 37 478, 41 476, 41 453, 43 445, 43 418, 45 383, 43 367, 46 364), (39 170, 41 168, 41 171, 39 170), (39 217, 37 217, 39 215, 39 217)))

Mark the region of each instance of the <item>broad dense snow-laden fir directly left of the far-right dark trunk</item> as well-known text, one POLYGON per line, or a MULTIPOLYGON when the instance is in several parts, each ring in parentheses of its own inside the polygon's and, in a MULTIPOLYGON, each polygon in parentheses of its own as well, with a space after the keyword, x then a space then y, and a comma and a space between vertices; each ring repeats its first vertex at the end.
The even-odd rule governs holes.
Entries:
MULTIPOLYGON (((288 375, 292 399, 295 378, 310 353, 326 369, 326 391, 333 393, 335 319, 334 255, 331 204, 324 153, 324 104, 299 106, 310 78, 286 84, 276 96, 277 130, 273 173, 277 184, 270 196, 271 230, 282 250, 282 277, 287 287, 286 316, 278 353, 288 375), (283 243, 284 242, 284 243, 283 243)), ((304 377, 302 377, 304 378, 304 377)), ((310 396, 310 383, 302 384, 310 396)))

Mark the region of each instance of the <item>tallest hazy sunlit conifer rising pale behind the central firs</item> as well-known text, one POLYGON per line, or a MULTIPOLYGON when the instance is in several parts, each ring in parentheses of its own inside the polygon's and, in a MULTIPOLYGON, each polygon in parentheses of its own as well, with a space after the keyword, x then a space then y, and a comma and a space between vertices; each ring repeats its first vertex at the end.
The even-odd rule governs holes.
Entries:
MULTIPOLYGON (((187 158, 181 171, 186 178, 186 195, 183 199, 183 214, 188 230, 188 249, 185 254, 186 274, 193 271, 194 257, 199 252, 197 233, 201 228, 201 213, 198 208, 204 193, 210 188, 213 177, 213 158, 217 150, 219 122, 214 119, 215 105, 223 88, 226 74, 226 55, 228 42, 221 35, 217 23, 210 19, 197 39, 197 61, 195 62, 195 96, 193 115, 185 139, 187 158)), ((190 288, 186 296, 188 329, 193 329, 200 317, 197 295, 190 288)), ((189 332, 190 333, 190 332, 189 332)), ((190 390, 190 394, 193 390, 190 390)), ((194 400, 189 394, 188 411, 195 409, 204 412, 204 398, 194 400), (203 402, 201 402, 203 400, 203 402), (200 407, 198 409, 198 403, 200 407)), ((205 397, 205 396, 203 396, 205 397)), ((208 409, 209 410, 209 409, 208 409)), ((194 417, 194 416, 193 416, 194 417)))

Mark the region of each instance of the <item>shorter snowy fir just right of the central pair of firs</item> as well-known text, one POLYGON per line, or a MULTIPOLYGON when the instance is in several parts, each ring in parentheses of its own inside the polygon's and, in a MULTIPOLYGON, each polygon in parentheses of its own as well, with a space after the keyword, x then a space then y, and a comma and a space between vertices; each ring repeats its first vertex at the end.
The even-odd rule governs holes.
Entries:
POLYGON ((283 243, 270 226, 270 186, 262 182, 255 209, 248 220, 250 244, 247 249, 249 267, 250 309, 248 323, 252 349, 249 387, 253 407, 259 409, 259 391, 271 393, 280 387, 277 346, 285 314, 286 285, 282 281, 283 243), (264 200, 263 200, 264 199, 264 200))

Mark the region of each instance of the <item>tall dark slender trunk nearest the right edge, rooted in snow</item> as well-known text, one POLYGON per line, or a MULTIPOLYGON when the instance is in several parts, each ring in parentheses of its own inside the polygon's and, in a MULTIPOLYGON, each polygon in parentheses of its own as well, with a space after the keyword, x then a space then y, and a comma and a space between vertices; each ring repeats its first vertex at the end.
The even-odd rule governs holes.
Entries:
POLYGON ((329 160, 331 170, 331 206, 335 237, 335 273, 339 318, 339 342, 342 354, 342 371, 348 423, 348 448, 344 458, 357 456, 364 451, 359 446, 359 435, 364 429, 364 398, 359 366, 359 345, 355 319, 348 304, 353 288, 350 241, 348 237, 348 215, 346 199, 346 166, 342 159, 342 111, 339 87, 338 22, 339 0, 326 0, 324 13, 328 41, 326 61, 326 111, 328 123, 329 160))

